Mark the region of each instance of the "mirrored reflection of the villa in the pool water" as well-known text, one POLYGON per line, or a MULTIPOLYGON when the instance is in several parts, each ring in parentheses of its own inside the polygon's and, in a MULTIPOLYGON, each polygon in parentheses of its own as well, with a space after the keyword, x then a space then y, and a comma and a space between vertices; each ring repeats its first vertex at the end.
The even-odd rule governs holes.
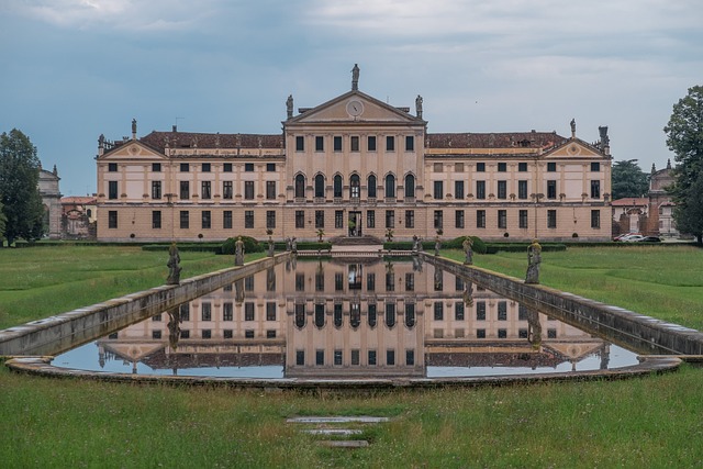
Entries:
POLYGON ((281 264, 100 340, 101 359, 359 378, 421 377, 427 366, 554 367, 594 351, 606 365, 601 339, 423 267, 281 264))

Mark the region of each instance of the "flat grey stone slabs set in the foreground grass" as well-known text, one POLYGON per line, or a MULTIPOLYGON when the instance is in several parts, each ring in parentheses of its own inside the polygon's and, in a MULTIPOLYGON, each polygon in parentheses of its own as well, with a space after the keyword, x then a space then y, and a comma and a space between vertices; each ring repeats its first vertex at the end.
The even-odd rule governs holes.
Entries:
MULTIPOLYGON (((287 423, 304 426, 301 431, 311 435, 353 437, 361 435, 364 431, 358 428, 345 428, 353 425, 373 425, 388 422, 388 417, 373 416, 305 416, 288 418, 287 423)), ((320 444, 331 448, 365 448, 369 446, 366 439, 322 439, 320 444)))

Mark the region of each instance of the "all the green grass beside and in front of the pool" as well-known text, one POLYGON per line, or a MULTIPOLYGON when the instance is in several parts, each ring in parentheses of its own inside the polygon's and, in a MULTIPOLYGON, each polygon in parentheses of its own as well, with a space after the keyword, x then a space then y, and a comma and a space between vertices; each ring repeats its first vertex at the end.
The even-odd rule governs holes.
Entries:
MULTIPOLYGON (((695 326, 702 256, 691 247, 545 253, 542 281, 695 326)), ((186 277, 232 261, 181 257, 186 277)), ((476 264, 523 277, 525 257, 477 256, 476 264)), ((165 261, 164 253, 135 248, 0 249, 0 319, 19 324, 159 284, 165 261), (43 306, 24 311, 35 298, 43 306)), ((0 461, 11 468, 701 467, 702 383, 703 370, 684 366, 626 381, 342 397, 49 380, 2 368, 0 461), (284 423, 310 414, 392 420, 365 429, 368 448, 333 450, 284 423)))

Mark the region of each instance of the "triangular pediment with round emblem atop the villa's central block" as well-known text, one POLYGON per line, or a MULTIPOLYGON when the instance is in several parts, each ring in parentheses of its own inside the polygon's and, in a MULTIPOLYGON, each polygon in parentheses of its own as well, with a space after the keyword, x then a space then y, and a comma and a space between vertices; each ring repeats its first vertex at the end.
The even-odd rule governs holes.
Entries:
POLYGON ((409 108, 394 108, 360 91, 349 91, 315 108, 301 109, 301 113, 286 121, 286 125, 325 123, 395 123, 425 122, 410 113, 409 108))

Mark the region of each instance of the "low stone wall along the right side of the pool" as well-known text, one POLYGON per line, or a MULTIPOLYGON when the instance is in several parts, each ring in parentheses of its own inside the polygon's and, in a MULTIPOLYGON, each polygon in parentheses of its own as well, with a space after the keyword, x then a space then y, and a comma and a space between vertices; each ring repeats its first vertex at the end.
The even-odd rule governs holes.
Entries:
POLYGON ((703 355, 699 331, 456 260, 420 255, 435 267, 640 354, 703 355))

